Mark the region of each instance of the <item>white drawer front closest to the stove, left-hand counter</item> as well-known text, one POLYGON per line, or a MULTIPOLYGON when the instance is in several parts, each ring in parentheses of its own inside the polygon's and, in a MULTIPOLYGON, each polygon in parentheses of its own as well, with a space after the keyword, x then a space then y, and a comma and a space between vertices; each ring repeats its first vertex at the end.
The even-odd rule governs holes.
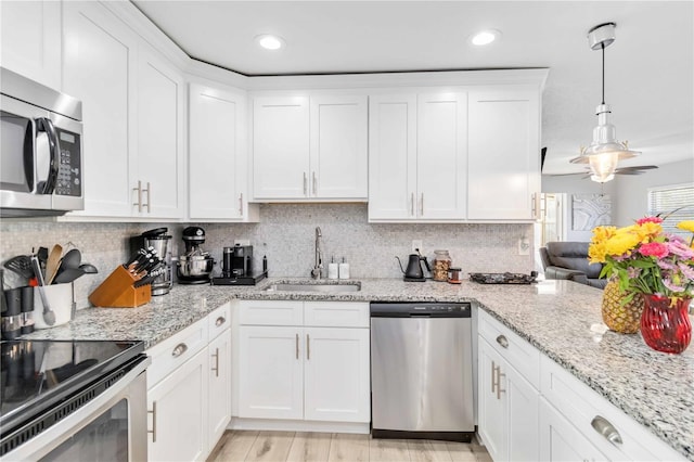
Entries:
POLYGON ((152 388, 176 368, 207 346, 207 319, 202 319, 147 349, 152 365, 147 368, 147 388, 152 388))

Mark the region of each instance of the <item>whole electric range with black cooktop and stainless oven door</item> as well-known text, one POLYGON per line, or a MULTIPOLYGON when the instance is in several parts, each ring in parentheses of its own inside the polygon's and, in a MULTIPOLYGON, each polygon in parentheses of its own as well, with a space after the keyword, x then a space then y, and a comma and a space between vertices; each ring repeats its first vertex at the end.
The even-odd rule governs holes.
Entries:
POLYGON ((146 460, 142 342, 0 345, 0 459, 146 460))

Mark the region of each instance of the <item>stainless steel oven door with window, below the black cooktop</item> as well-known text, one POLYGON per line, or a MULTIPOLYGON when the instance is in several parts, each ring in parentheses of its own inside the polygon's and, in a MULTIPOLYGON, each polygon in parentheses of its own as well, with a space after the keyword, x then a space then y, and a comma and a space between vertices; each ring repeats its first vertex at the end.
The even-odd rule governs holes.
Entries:
POLYGON ((82 408, 2 457, 3 461, 144 461, 146 367, 140 362, 82 408))

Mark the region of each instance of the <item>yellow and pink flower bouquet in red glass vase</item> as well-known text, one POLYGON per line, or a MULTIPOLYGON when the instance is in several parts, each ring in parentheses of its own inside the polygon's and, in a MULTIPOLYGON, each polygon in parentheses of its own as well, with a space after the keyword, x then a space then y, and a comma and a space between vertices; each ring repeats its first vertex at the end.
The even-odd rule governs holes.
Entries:
MULTIPOLYGON (((645 343, 666 352, 682 352, 692 338, 689 304, 694 293, 694 238, 666 233, 660 217, 635 224, 597 227, 589 247, 591 262, 604 264, 601 277, 613 275, 624 304, 643 295, 641 333, 645 343)), ((679 229, 694 233, 694 221, 679 229)))

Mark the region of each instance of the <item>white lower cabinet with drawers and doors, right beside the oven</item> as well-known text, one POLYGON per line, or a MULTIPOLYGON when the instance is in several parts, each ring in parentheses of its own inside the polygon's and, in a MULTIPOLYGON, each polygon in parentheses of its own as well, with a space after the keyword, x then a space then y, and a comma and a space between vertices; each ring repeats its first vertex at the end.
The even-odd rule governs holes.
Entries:
POLYGON ((230 325, 226 304, 147 350, 147 460, 203 461, 217 445, 231 419, 230 325))

